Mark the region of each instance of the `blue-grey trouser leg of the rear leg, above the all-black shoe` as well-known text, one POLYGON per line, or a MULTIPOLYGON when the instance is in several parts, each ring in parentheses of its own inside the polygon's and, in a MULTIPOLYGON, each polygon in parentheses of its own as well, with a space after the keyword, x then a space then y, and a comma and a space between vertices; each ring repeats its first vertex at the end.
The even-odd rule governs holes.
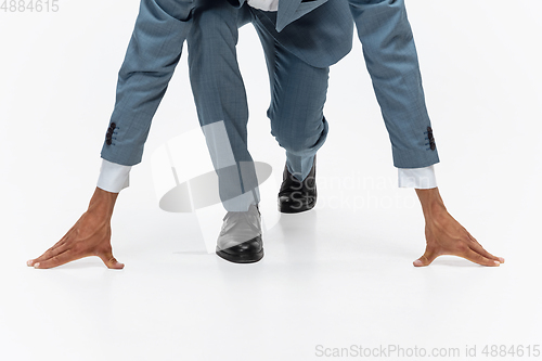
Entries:
POLYGON ((263 47, 271 86, 268 109, 271 133, 286 150, 288 171, 302 181, 327 136, 323 108, 330 68, 302 62, 281 46, 279 33, 261 26, 259 16, 269 16, 275 22, 275 13, 257 10, 253 13, 256 14, 253 24, 263 47))

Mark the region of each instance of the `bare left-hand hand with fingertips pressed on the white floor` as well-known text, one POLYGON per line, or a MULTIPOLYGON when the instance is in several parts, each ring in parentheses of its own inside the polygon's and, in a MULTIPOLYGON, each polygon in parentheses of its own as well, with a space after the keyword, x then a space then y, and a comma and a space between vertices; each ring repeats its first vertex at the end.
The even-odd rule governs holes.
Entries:
POLYGON ((98 256, 111 269, 122 269, 113 257, 111 247, 111 217, 118 193, 96 188, 89 209, 54 246, 26 263, 34 268, 53 268, 73 260, 98 256))

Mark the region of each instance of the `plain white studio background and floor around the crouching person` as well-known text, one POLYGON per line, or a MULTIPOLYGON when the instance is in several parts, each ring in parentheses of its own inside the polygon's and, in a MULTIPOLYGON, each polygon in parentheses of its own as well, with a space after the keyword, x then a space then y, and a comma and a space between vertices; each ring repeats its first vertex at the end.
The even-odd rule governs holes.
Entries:
MULTIPOLYGON (((98 258, 27 268, 93 192, 138 9, 61 0, 57 13, 0 12, 1 360, 311 360, 321 359, 317 345, 389 344, 477 345, 487 360, 485 345, 542 344, 539 0, 408 2, 441 194, 506 258, 500 268, 452 257, 412 267, 425 245, 422 212, 412 190, 397 189, 358 40, 332 67, 319 205, 282 217, 261 262, 206 254, 194 215, 157 206, 153 151, 197 127, 183 54, 115 210, 125 270, 98 258)), ((250 25, 238 60, 250 150, 279 177, 284 156, 269 134, 267 72, 250 25)))

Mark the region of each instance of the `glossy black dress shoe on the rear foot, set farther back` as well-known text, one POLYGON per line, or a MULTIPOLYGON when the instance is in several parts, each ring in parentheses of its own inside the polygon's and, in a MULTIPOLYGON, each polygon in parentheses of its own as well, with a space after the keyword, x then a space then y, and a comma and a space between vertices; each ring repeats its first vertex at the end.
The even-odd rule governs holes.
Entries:
POLYGON ((298 214, 310 210, 317 205, 317 157, 309 175, 301 182, 284 166, 281 191, 279 192, 279 211, 298 214))

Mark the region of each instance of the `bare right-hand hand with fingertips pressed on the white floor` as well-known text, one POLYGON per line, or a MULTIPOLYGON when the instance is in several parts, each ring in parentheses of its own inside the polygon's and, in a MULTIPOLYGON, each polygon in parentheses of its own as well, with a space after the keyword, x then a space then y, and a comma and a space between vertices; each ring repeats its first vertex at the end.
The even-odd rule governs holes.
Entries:
POLYGON ((504 258, 495 257, 476 241, 446 209, 438 188, 416 190, 425 217, 425 254, 415 267, 429 266, 442 255, 459 256, 481 266, 496 267, 504 258))

